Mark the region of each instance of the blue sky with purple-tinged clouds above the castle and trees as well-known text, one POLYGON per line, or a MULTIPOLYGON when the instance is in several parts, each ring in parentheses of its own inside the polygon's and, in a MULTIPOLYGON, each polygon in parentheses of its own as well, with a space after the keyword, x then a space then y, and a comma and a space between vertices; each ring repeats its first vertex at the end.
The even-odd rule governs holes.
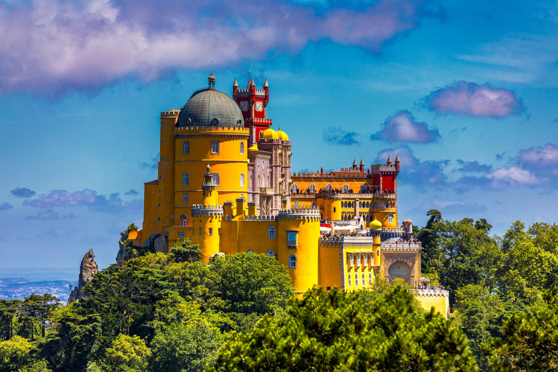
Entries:
POLYGON ((554 223, 557 23, 553 2, 0 1, 0 267, 113 263, 159 114, 211 60, 228 94, 264 60, 294 171, 398 153, 400 219, 554 223))

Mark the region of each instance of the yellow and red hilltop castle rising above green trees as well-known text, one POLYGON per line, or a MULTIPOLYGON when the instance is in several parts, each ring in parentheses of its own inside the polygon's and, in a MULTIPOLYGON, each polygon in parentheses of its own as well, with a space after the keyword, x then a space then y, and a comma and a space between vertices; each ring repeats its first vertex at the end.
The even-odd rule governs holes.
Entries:
MULTIPOLYGON (((286 265, 297 293, 314 284, 353 291, 378 272, 425 283, 411 220, 399 224, 398 157, 366 169, 355 159, 338 172, 291 173, 291 141, 266 115, 267 79, 262 89, 253 79, 239 89, 235 79, 232 97, 215 89, 213 74, 208 83, 181 109, 161 113, 158 177, 145 183, 134 245, 160 233, 167 247, 184 238, 199 244, 205 262, 267 254, 286 265), (328 229, 357 234, 321 234, 328 229)), ((446 291, 418 296, 425 308, 448 313, 446 291)))

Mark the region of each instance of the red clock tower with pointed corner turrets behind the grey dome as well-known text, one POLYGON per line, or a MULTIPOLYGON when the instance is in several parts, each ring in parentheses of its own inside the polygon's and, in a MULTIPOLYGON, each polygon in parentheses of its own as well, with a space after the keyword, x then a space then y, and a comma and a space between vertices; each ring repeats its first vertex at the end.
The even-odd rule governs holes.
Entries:
POLYGON ((248 147, 252 147, 258 142, 259 132, 272 125, 271 119, 266 118, 266 107, 270 101, 270 87, 267 85, 267 79, 262 88, 256 89, 254 78, 252 78, 248 81, 246 89, 238 89, 237 79, 234 79, 233 99, 242 112, 244 127, 250 128, 248 147))

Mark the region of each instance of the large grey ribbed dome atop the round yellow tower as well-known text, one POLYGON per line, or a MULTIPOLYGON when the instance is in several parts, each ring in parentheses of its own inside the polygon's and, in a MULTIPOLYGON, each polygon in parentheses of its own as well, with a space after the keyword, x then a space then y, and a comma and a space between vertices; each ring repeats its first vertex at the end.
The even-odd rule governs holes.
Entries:
POLYGON ((238 104, 227 94, 215 89, 194 92, 182 108, 178 117, 178 127, 209 127, 219 120, 219 127, 243 125, 242 112, 238 104), (186 120, 190 119, 189 123, 186 120), (240 124, 238 122, 240 120, 240 124))

